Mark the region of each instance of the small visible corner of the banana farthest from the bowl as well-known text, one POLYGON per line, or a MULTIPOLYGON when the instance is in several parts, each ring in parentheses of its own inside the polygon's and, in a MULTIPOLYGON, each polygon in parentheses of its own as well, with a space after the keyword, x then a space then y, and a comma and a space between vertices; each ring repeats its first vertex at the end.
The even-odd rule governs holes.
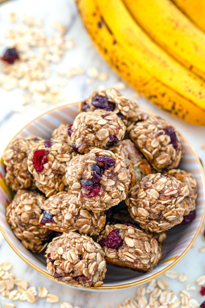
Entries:
POLYGON ((171 0, 205 32, 205 1, 204 0, 171 0))

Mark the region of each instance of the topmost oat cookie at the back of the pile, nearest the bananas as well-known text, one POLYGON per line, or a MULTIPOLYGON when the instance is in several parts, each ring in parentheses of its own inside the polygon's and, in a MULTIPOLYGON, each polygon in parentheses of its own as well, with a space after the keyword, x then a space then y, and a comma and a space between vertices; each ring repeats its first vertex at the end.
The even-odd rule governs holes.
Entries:
POLYGON ((80 112, 94 111, 95 109, 113 111, 120 117, 125 126, 140 120, 142 115, 136 102, 120 94, 114 88, 105 91, 93 91, 84 102, 81 102, 79 109, 80 112))

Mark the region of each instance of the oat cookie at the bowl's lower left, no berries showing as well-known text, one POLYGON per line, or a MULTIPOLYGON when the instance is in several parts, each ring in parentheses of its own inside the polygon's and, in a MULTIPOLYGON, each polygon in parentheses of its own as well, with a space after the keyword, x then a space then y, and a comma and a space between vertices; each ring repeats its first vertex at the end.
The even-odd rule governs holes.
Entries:
POLYGON ((45 249, 52 233, 38 224, 44 201, 45 198, 39 193, 19 189, 6 208, 6 219, 14 235, 34 253, 45 249))

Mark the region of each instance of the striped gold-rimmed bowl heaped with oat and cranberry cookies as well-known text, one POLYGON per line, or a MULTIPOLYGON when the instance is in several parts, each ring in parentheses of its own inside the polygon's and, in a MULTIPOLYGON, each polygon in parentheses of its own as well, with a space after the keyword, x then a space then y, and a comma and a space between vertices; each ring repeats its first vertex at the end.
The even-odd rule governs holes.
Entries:
POLYGON ((0 164, 0 229, 32 268, 115 290, 170 269, 204 219, 204 173, 171 123, 115 89, 48 111, 0 164))

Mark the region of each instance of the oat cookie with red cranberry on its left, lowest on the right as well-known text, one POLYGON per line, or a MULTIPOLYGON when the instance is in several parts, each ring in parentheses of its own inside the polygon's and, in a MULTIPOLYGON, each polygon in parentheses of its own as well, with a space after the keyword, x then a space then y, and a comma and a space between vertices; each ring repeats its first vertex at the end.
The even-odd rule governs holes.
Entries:
POLYGON ((130 225, 106 225, 98 237, 108 263, 148 272, 161 258, 161 248, 152 234, 130 225))

